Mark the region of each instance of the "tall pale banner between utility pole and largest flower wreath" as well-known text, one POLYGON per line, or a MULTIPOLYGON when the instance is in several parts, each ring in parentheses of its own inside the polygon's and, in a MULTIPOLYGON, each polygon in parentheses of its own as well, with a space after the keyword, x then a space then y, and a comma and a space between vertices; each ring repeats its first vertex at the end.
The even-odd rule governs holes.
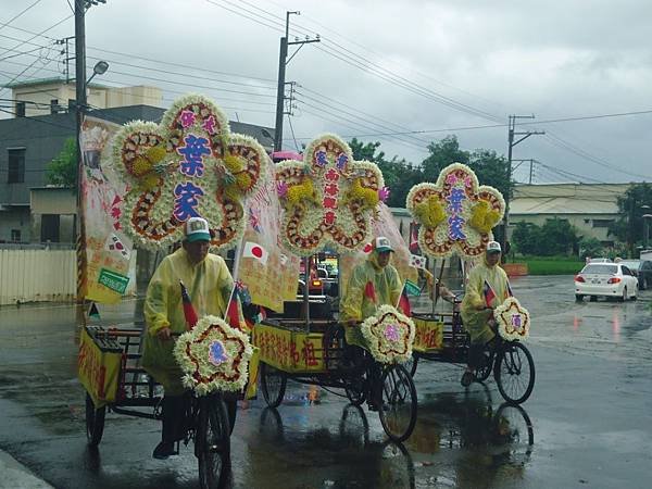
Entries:
POLYGON ((116 303, 122 288, 108 287, 102 271, 121 280, 128 280, 131 240, 123 233, 120 217, 126 184, 109 164, 112 147, 109 143, 120 129, 117 124, 95 117, 85 117, 79 135, 84 160, 82 199, 86 241, 85 279, 86 299, 101 303, 116 303))

